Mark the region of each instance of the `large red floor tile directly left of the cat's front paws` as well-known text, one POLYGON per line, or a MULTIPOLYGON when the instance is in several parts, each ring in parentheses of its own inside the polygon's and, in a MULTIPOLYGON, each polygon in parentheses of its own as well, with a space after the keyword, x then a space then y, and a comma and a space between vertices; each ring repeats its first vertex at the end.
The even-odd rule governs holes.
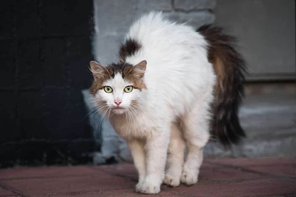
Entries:
MULTIPOLYGON (((95 171, 94 171, 95 172, 95 171)), ((20 191, 28 196, 51 193, 68 193, 81 191, 117 190, 134 188, 136 183, 125 178, 100 172, 92 176, 31 178, 0 180, 0 185, 20 191)))

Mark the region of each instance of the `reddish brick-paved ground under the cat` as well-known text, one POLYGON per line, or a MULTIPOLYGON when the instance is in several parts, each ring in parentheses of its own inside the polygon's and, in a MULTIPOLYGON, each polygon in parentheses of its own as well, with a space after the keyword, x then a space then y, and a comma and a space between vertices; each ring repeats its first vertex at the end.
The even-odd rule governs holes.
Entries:
MULTIPOLYGON (((145 196, 136 181, 129 164, 15 167, 0 170, 0 196, 145 196)), ((296 196, 296 158, 205 160, 197 184, 151 196, 296 196)))

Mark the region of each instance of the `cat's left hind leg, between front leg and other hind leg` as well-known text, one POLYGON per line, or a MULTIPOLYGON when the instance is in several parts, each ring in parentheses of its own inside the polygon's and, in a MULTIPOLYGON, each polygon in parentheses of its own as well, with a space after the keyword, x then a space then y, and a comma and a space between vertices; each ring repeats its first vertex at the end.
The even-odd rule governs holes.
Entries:
POLYGON ((168 146, 168 169, 165 172, 163 183, 171 187, 180 185, 180 178, 184 163, 185 141, 178 124, 173 123, 170 144, 168 146))

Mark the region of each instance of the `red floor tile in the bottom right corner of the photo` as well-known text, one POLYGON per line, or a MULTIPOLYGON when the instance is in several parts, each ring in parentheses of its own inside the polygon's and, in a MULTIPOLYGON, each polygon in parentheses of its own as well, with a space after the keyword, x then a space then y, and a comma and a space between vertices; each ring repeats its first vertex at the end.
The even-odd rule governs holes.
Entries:
POLYGON ((186 188, 172 188, 171 191, 199 197, 250 197, 296 194, 296 182, 290 180, 261 179, 237 183, 194 185, 186 188))

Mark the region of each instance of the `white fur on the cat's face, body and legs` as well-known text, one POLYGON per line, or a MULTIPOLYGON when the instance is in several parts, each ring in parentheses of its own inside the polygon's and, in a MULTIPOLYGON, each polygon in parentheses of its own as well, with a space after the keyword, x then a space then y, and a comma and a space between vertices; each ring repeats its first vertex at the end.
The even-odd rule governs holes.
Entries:
POLYGON ((197 182, 202 148, 209 139, 210 103, 213 101, 215 74, 207 60, 207 41, 186 24, 164 19, 151 12, 134 22, 127 39, 141 48, 126 62, 147 61, 144 83, 147 89, 123 92, 127 85, 120 75, 105 83, 113 94, 99 90, 96 99, 121 106, 110 116, 115 131, 127 140, 139 172, 136 191, 159 193, 161 183, 178 186, 180 181, 197 182), (135 101, 135 102, 133 102, 135 101), (183 165, 185 142, 189 153, 183 165), (168 169, 164 174, 168 157, 168 169))

